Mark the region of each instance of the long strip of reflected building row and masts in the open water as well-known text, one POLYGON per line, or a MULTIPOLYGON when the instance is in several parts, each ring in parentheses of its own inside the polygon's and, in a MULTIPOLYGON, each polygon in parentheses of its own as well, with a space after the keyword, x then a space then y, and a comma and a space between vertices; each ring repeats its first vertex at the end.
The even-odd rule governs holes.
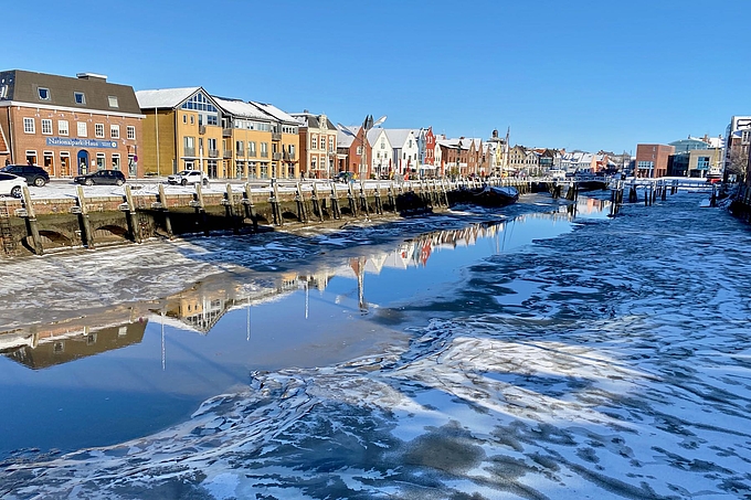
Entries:
POLYGON ((324 291, 335 277, 357 280, 357 301, 361 312, 370 305, 366 294, 366 275, 380 275, 384 269, 426 267, 438 252, 476 245, 491 238, 496 253, 505 251, 509 233, 535 220, 571 221, 577 213, 603 212, 610 202, 580 199, 562 205, 553 213, 530 213, 499 223, 473 224, 457 230, 426 233, 399 244, 389 252, 372 252, 342 259, 341 265, 327 263, 315 270, 285 272, 252 280, 208 279, 158 301, 138 302, 84 318, 0 332, 0 353, 32 369, 74 361, 101 352, 139 343, 147 317, 157 315, 165 325, 200 334, 208 334, 219 320, 233 309, 246 308, 247 337, 251 331, 250 308, 285 295, 305 292, 305 318, 308 318, 310 290, 324 291), (118 318, 118 319, 114 319, 118 318))

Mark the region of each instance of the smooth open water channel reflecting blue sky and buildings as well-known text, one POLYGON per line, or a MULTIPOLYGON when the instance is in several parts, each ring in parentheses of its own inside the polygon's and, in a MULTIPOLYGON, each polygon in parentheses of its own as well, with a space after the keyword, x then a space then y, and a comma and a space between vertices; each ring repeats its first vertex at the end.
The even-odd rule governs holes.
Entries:
POLYGON ((609 203, 582 198, 569 209, 426 233, 388 252, 361 246, 359 256, 315 272, 253 283, 215 276, 19 337, 15 345, 6 336, 0 457, 147 435, 247 384, 252 371, 329 365, 408 342, 415 318, 395 313, 399 305, 449 297, 468 265, 570 232, 578 217, 604 219, 609 203))

